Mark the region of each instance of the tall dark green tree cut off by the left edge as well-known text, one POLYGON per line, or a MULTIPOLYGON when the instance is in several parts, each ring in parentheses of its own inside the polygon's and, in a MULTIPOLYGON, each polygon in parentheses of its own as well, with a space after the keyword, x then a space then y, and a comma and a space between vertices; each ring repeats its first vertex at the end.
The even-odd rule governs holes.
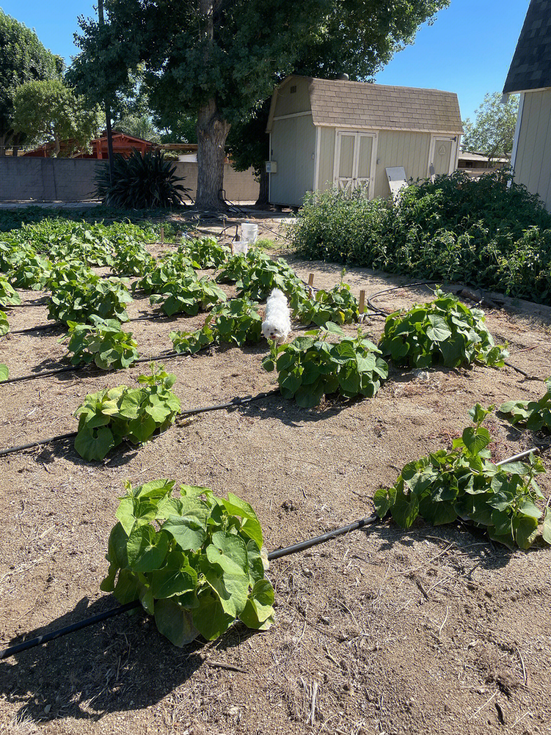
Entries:
POLYGON ((34 31, 0 8, 0 155, 24 140, 13 127, 15 91, 34 79, 59 78, 62 68, 61 58, 47 51, 34 31))

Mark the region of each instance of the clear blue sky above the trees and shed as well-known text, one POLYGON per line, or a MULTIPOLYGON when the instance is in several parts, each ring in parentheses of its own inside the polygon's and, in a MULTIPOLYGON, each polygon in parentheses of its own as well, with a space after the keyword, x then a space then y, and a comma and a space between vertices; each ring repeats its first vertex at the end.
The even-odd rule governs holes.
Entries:
MULTIPOLYGON (((0 0, 0 7, 67 64, 76 53, 77 16, 95 13, 89 0, 0 0)), ((502 90, 527 10, 528 0, 451 0, 376 81, 456 92, 462 118, 472 117, 486 92, 502 90)))

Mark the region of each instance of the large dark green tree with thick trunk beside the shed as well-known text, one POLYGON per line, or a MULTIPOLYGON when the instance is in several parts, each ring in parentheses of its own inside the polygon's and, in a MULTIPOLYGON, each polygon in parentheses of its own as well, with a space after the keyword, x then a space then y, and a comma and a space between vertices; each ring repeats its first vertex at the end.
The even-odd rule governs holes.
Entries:
POLYGON ((106 24, 80 19, 73 79, 112 97, 145 64, 159 115, 197 117, 197 206, 223 205, 227 134, 303 59, 366 78, 449 0, 106 0, 106 24))

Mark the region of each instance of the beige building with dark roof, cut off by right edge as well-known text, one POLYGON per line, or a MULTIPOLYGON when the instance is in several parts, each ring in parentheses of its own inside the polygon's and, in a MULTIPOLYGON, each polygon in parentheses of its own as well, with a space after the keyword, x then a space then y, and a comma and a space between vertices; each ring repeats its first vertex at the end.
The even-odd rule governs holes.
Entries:
POLYGON ((551 0, 530 1, 503 93, 520 93, 514 180, 551 212, 551 0))

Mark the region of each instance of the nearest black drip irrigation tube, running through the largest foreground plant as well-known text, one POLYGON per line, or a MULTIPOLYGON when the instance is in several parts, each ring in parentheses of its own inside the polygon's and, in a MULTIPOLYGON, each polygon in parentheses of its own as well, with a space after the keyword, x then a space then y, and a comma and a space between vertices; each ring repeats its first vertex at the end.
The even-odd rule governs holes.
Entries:
MULTIPOLYGON (((518 454, 515 454, 514 456, 508 457, 507 459, 503 459, 501 462, 497 462, 497 465, 506 465, 509 462, 515 462, 517 461, 517 459, 522 459, 523 457, 528 456, 530 452, 538 453, 538 451, 539 450, 537 448, 527 449, 518 454)), ((292 546, 286 546, 285 548, 271 551, 268 554, 268 559, 270 561, 273 561, 274 559, 281 559, 282 556, 289 556, 293 553, 299 553, 299 551, 304 551, 305 549, 311 548, 312 546, 323 544, 339 536, 343 536, 343 534, 349 534, 351 531, 357 531, 357 529, 364 528, 364 526, 373 526, 375 523, 377 523, 378 520, 379 516, 376 514, 370 515, 365 518, 360 518, 360 520, 355 520, 353 523, 349 523, 348 526, 341 526, 340 528, 335 528, 332 531, 327 531, 326 534, 321 534, 321 536, 315 536, 313 538, 305 539, 304 541, 293 544, 292 546)), ((31 638, 16 645, 12 645, 8 648, 4 648, 4 650, 0 650, 0 660, 7 659, 9 656, 15 656, 15 654, 21 653, 23 650, 36 648, 39 645, 43 645, 43 643, 48 643, 51 640, 61 638, 62 636, 65 636, 67 634, 80 631, 82 628, 88 628, 90 625, 95 625, 95 623, 101 623, 103 622, 103 620, 109 620, 110 617, 115 617, 117 615, 123 614, 123 612, 129 612, 130 610, 137 609, 139 608, 139 606, 141 606, 140 601, 133 600, 132 602, 128 602, 125 605, 118 605, 117 607, 114 607, 110 610, 100 612, 96 615, 92 615, 91 617, 86 617, 84 618, 84 620, 80 620, 78 623, 65 625, 64 628, 58 628, 56 631, 51 631, 50 633, 45 633, 41 636, 37 636, 36 638, 31 638)))

